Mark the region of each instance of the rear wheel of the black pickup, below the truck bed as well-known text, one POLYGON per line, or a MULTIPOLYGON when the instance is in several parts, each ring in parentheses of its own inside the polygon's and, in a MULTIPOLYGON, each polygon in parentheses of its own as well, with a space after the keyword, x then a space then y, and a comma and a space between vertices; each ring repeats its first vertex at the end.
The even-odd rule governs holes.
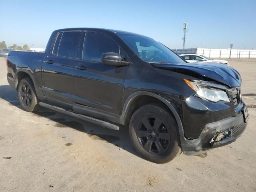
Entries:
POLYGON ((38 110, 38 98, 31 78, 20 80, 18 86, 18 98, 23 110, 27 112, 38 110))

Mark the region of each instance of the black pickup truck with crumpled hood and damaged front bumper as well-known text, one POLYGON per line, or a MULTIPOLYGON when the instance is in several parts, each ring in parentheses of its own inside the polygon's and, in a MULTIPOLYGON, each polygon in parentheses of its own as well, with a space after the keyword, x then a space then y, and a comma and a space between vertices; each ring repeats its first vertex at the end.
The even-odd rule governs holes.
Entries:
POLYGON ((98 28, 56 30, 44 53, 11 51, 10 86, 39 106, 119 130, 164 163, 234 142, 247 125, 241 77, 217 63, 189 64, 146 36, 98 28))

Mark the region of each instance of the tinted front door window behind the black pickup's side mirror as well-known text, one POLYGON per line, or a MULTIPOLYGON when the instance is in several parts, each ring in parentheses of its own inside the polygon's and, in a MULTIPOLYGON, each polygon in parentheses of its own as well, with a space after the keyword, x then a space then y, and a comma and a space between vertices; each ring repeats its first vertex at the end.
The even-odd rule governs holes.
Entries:
POLYGON ((83 59, 100 62, 102 53, 119 53, 119 46, 110 37, 98 33, 86 32, 83 59))

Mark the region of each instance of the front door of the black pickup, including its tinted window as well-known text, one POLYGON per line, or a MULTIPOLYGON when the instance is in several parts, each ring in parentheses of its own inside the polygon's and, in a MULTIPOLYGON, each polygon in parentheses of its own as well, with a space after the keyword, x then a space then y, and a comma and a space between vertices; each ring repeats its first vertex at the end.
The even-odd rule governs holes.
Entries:
MULTIPOLYGON (((102 110, 120 114, 124 91, 124 77, 128 66, 110 66, 102 64, 102 53, 120 53, 125 60, 128 56, 109 36, 95 32, 85 32, 82 47, 82 59, 74 69, 74 102, 80 109, 74 111, 88 114, 102 110), (81 110, 83 108, 83 110, 81 110)), ((81 41, 82 42, 82 41, 81 41)))

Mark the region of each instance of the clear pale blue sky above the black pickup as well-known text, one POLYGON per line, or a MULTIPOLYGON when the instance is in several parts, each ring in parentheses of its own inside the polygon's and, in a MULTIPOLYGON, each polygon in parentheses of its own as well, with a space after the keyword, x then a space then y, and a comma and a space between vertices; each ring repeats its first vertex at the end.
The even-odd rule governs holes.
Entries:
POLYGON ((52 31, 95 27, 154 38, 169 48, 256 48, 256 0, 0 0, 0 42, 45 48, 52 31))

